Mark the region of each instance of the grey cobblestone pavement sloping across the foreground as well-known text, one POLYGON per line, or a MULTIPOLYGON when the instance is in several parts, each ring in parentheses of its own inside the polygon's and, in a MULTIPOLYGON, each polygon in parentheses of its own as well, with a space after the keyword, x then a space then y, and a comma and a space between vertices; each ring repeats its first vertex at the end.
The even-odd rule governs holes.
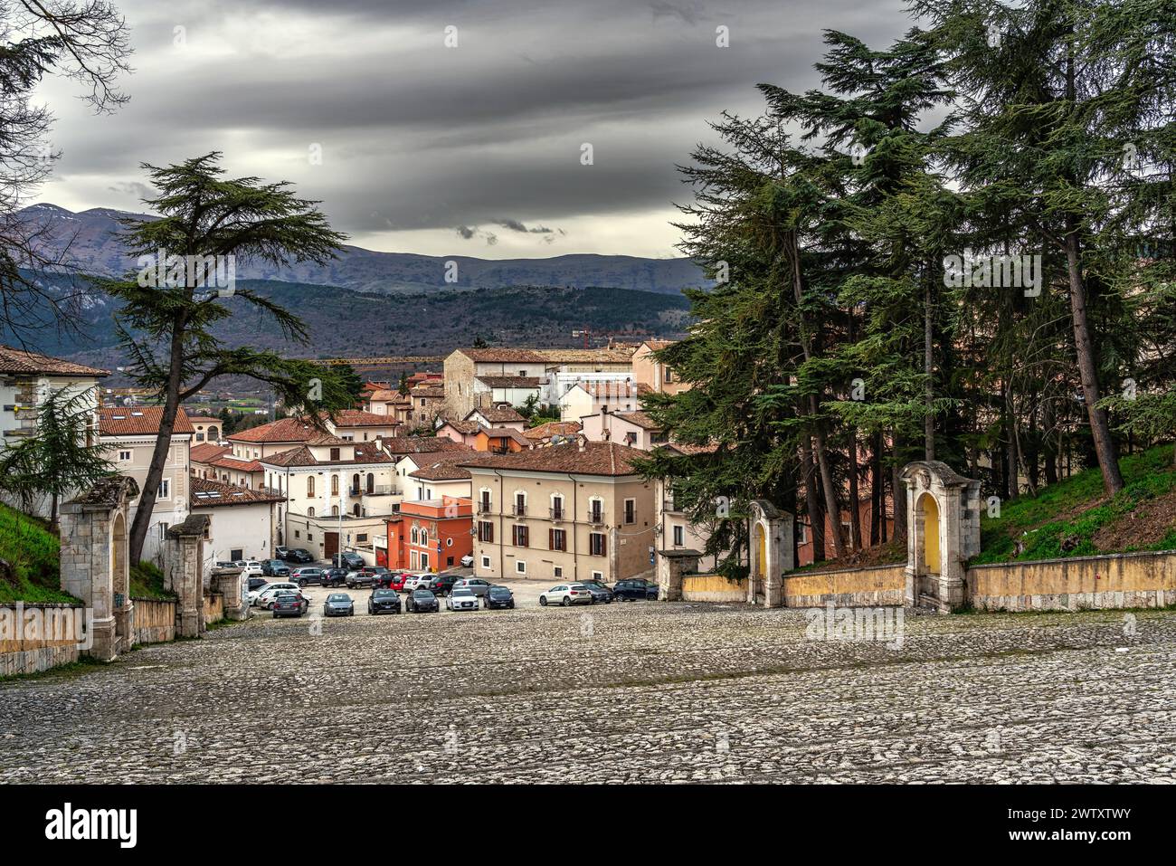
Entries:
POLYGON ((901 647, 808 621, 254 619, 0 684, 0 781, 1176 779, 1174 612, 908 615, 901 647))

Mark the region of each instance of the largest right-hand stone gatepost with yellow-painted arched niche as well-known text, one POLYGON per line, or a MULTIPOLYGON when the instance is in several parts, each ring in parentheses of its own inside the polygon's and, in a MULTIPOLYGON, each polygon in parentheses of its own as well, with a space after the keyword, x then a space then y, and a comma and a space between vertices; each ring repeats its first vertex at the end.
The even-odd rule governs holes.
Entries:
POLYGON ((968 559, 980 553, 980 481, 938 460, 902 469, 907 485, 907 605, 961 607, 968 559))

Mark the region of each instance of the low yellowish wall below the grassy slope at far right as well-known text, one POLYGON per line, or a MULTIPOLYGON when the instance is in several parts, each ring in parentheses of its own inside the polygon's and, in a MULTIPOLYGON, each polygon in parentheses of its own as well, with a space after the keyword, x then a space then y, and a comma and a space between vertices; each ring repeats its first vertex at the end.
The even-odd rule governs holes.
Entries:
POLYGON ((1176 604, 1176 553, 1116 553, 977 565, 964 597, 982 611, 1078 611, 1176 604))

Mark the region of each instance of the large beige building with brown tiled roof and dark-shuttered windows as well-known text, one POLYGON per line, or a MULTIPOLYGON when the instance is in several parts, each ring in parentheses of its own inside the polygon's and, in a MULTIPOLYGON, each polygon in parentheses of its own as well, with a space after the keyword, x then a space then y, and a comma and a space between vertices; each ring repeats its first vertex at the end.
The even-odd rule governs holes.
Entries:
POLYGON ((657 513, 653 484, 633 468, 637 454, 579 439, 460 464, 470 472, 477 577, 613 582, 652 574, 657 513))

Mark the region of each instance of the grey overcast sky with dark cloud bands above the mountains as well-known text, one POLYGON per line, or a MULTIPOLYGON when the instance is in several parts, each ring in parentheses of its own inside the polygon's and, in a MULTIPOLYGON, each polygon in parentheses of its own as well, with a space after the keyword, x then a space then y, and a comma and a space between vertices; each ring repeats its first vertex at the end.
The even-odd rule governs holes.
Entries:
POLYGON ((39 201, 139 211, 140 162, 219 149, 359 246, 483 258, 679 255, 674 166, 708 119, 760 112, 761 81, 815 86, 824 28, 910 26, 902 0, 116 2, 131 102, 94 116, 41 87, 64 156, 39 201))

